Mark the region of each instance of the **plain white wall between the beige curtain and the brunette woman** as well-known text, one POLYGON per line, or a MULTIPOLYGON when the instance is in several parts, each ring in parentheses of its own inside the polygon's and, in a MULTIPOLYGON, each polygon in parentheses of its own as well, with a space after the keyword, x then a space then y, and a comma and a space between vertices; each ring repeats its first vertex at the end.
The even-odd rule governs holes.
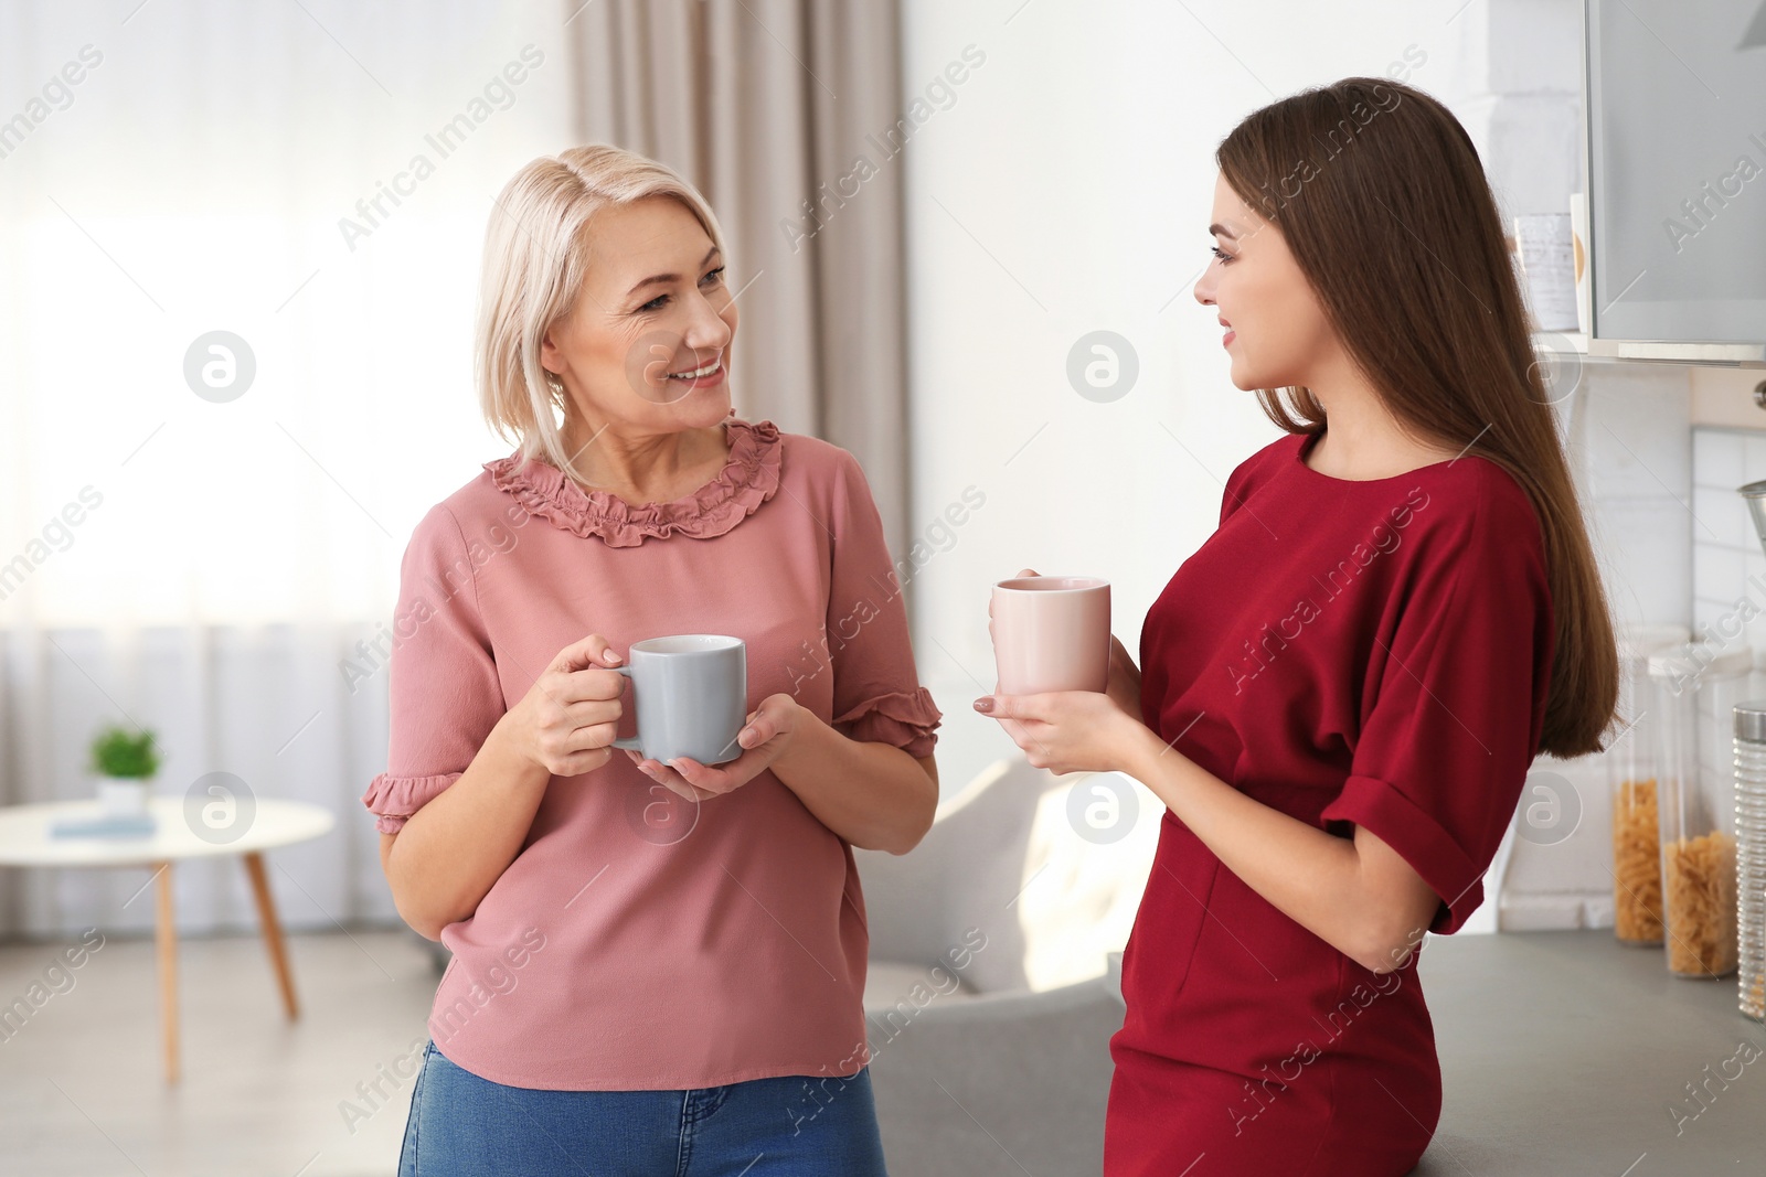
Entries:
POLYGON ((909 97, 966 46, 985 53, 906 168, 913 514, 927 528, 964 487, 987 496, 911 586, 947 791, 1015 752, 970 708, 994 685, 987 586, 1021 566, 1106 575, 1116 635, 1137 649, 1146 609, 1213 531, 1226 476, 1279 436, 1227 379, 1190 293, 1219 141, 1257 106, 1385 76, 1406 49, 1423 58, 1409 81, 1455 104, 1483 88, 1489 56, 1468 41, 1483 0, 1457 16, 1459 0, 1019 4, 904 4, 909 97), (1111 404, 1065 374, 1098 328, 1139 356, 1111 404))

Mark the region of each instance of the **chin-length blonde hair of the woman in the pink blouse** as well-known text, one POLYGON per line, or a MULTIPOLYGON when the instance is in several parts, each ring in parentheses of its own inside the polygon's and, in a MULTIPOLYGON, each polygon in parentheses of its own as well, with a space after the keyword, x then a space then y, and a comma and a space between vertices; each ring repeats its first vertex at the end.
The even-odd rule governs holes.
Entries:
POLYGON ((692 184, 653 159, 606 143, 540 155, 503 185, 484 231, 473 381, 484 420, 523 457, 570 469, 563 385, 540 367, 546 330, 576 307, 599 210, 650 196, 680 201, 724 252, 717 217, 692 184))

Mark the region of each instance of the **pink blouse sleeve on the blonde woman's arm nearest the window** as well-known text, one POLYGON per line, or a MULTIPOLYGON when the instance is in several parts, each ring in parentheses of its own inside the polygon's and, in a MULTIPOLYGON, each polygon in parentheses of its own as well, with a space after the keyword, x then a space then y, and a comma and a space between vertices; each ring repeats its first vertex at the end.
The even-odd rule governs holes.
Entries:
POLYGON ((466 538, 447 506, 424 515, 404 549, 389 676, 387 771, 362 805, 376 829, 397 833, 459 780, 507 709, 466 538))

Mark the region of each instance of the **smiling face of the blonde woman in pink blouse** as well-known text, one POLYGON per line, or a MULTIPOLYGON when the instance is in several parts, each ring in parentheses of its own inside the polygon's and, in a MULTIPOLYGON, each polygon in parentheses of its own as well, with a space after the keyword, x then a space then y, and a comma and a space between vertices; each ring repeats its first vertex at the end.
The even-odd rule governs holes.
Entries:
POLYGON ((729 415, 736 304, 705 226, 657 196, 611 205, 590 228, 588 279, 540 344, 570 425, 673 432, 729 415))

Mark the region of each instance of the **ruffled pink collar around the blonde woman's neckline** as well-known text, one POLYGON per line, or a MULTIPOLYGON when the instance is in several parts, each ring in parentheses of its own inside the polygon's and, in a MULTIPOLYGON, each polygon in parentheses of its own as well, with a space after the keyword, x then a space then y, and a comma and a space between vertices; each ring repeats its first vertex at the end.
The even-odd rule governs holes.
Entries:
POLYGON ((724 420, 729 462, 708 484, 673 503, 634 506, 609 491, 585 491, 551 462, 521 454, 486 462, 491 482, 528 514, 608 547, 636 547, 646 538, 691 535, 708 540, 752 515, 779 491, 782 446, 772 422, 724 420))

